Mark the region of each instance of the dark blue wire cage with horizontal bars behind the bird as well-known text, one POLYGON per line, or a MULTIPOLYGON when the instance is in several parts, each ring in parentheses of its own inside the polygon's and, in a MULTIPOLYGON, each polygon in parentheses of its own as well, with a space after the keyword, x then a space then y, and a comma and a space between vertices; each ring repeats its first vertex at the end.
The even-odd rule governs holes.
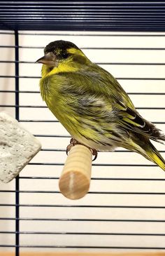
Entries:
MULTIPOLYGON (((70 201, 58 180, 70 135, 41 100, 50 41, 64 39, 108 70, 146 119, 165 130, 165 1, 1 1, 0 109, 43 145, 0 189, 0 255, 165 252, 164 172, 119 148, 99 153, 89 193, 70 201)), ((164 154, 164 146, 156 144, 164 154)), ((142 254, 141 254, 142 255, 142 254)))

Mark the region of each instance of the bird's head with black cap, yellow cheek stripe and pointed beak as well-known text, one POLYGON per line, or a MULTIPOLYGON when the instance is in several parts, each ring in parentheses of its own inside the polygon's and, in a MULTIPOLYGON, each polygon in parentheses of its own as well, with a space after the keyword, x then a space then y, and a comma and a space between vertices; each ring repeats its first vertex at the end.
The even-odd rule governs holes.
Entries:
POLYGON ((66 65, 78 65, 87 61, 87 57, 74 43, 69 41, 53 41, 44 49, 45 55, 36 62, 43 63, 48 67, 66 65))

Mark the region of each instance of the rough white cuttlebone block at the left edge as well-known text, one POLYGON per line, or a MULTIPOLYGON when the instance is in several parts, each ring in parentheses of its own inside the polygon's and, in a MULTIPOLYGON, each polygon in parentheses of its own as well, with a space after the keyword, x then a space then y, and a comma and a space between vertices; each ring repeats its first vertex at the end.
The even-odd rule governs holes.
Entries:
POLYGON ((40 151, 41 143, 20 123, 0 112, 0 180, 10 182, 40 151))

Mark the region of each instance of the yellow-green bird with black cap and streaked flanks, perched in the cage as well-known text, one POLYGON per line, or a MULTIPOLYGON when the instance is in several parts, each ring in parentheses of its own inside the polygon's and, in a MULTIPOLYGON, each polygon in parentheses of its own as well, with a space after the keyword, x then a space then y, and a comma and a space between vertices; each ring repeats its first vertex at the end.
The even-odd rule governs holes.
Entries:
POLYGON ((95 156, 123 147, 165 170, 163 157, 150 141, 164 144, 164 133, 138 113, 112 74, 70 41, 48 43, 36 62, 43 64, 41 96, 70 133, 70 146, 83 144, 95 156))

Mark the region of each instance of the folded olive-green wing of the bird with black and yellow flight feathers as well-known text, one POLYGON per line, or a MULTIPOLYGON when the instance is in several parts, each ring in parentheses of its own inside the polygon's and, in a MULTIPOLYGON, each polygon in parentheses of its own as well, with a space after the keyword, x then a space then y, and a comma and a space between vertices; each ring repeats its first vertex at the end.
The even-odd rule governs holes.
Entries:
MULTIPOLYGON (((140 133, 152 140, 165 140, 160 130, 138 114, 120 83, 106 70, 96 66, 96 69, 92 70, 92 72, 91 70, 89 72, 70 72, 63 75, 66 76, 66 93, 71 93, 80 99, 80 111, 82 102, 85 102, 83 106, 86 111, 92 113, 96 105, 96 99, 101 99, 104 102, 101 108, 103 107, 103 110, 106 109, 106 112, 109 108, 109 122, 112 122, 113 110, 115 113, 115 120, 113 119, 113 121, 119 123, 121 128, 140 133), (90 97, 94 100, 90 100, 90 97)), ((64 87, 62 90, 64 90, 64 87)), ((96 118, 99 116, 96 116, 96 118)))

